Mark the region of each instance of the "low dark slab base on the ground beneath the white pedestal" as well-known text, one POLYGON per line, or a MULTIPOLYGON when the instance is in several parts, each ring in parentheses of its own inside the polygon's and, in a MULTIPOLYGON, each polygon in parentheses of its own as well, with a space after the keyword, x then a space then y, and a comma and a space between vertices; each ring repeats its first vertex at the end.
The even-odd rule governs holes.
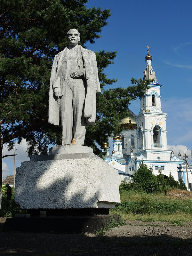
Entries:
POLYGON ((4 231, 22 231, 22 232, 63 232, 80 233, 94 232, 109 221, 119 221, 118 215, 101 216, 61 216, 46 218, 8 218, 4 224, 4 231))

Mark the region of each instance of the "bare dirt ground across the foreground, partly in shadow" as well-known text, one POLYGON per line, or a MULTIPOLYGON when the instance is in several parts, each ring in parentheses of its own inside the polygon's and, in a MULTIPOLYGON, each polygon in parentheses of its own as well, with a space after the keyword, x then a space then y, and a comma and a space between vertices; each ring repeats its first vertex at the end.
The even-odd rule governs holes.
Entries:
POLYGON ((191 256, 192 223, 172 226, 169 222, 126 221, 96 233, 55 234, 3 232, 6 218, 0 217, 0 255, 6 256, 191 256))

